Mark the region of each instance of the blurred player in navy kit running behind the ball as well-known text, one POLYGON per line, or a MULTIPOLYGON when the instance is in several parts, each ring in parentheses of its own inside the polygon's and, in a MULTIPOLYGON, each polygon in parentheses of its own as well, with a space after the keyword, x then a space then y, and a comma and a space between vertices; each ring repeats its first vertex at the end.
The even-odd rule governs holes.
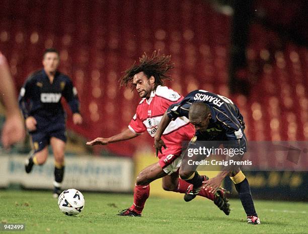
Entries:
POLYGON ((25 169, 30 173, 33 165, 42 165, 48 157, 48 145, 52 147, 55 167, 53 195, 60 194, 64 175, 64 150, 66 142, 65 112, 61 104, 63 96, 73 112, 73 123, 82 124, 76 88, 68 76, 57 71, 60 58, 56 49, 46 49, 43 69, 30 75, 19 96, 19 105, 32 137, 34 152, 25 169))

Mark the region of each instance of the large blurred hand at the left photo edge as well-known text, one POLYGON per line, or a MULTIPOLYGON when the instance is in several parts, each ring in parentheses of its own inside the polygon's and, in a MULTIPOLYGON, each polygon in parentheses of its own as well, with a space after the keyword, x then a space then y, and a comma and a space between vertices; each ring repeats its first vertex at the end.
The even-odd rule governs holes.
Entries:
POLYGON ((18 114, 7 116, 1 138, 5 149, 25 138, 24 122, 18 114))

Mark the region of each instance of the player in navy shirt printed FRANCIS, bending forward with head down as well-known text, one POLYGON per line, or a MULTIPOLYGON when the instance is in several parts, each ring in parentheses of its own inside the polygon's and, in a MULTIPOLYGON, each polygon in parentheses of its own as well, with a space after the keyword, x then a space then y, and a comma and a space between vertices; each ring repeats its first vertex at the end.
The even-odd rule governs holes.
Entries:
MULTIPOLYGON (((164 141, 161 139, 161 136, 169 123, 183 116, 189 118, 190 123, 196 129, 195 137, 190 144, 193 144, 195 141, 230 141, 235 143, 230 146, 240 147, 245 149, 245 152, 247 151, 247 140, 244 133, 245 123, 238 107, 232 100, 204 90, 192 91, 182 101, 168 108, 155 136, 155 147, 157 150, 161 150, 162 146, 164 146, 164 141)), ((223 170, 211 181, 204 182, 197 171, 186 170, 184 166, 185 163, 182 163, 180 177, 194 185, 191 193, 185 195, 186 200, 195 198, 199 189, 203 186, 202 184, 205 184, 205 187, 214 192, 220 186, 223 178, 229 174, 230 179, 235 183, 235 187, 239 193, 242 205, 247 214, 248 223, 260 224, 249 183, 239 167, 231 171, 223 170)))

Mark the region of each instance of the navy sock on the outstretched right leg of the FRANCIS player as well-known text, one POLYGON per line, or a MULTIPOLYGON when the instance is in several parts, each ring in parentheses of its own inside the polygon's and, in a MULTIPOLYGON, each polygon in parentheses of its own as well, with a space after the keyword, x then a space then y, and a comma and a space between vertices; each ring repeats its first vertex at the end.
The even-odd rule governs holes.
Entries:
POLYGON ((241 199, 242 205, 244 207, 247 216, 251 215, 258 216, 251 195, 248 180, 245 178, 245 180, 242 181, 241 183, 235 184, 235 187, 239 193, 239 197, 241 199))

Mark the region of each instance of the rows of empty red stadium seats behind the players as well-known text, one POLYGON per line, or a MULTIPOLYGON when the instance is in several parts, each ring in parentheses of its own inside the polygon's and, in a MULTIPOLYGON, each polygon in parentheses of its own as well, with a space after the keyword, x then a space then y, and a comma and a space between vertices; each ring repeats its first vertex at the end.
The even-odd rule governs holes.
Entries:
MULTIPOLYGON (((250 140, 307 140, 307 50, 287 44, 271 50, 268 32, 251 30, 247 50, 250 96, 227 88, 230 18, 204 1, 2 1, 0 50, 7 55, 17 87, 39 69, 44 48, 60 51, 60 70, 79 91, 85 125, 68 126, 88 138, 111 136, 128 125, 139 97, 118 79, 145 51, 172 54, 175 90, 220 93, 235 100, 250 140), (29 14, 31 12, 31 14, 29 14), (180 24, 178 22, 181 22, 180 24)), ((144 145, 152 139, 143 137, 144 145)), ((131 155, 139 140, 110 145, 131 155)))

